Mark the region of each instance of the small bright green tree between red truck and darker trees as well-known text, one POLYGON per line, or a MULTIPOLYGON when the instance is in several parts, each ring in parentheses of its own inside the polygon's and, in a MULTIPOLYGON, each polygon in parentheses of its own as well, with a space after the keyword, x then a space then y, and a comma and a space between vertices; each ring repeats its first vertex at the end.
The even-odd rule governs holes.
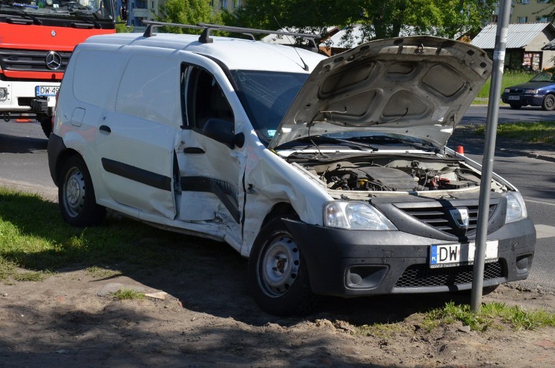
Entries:
MULTIPOLYGON (((210 0, 168 0, 164 5, 158 7, 159 15, 155 19, 160 22, 197 24, 216 23, 219 19, 217 14, 212 12, 210 0)), ((162 27, 161 31, 171 33, 198 33, 187 28, 162 27)))

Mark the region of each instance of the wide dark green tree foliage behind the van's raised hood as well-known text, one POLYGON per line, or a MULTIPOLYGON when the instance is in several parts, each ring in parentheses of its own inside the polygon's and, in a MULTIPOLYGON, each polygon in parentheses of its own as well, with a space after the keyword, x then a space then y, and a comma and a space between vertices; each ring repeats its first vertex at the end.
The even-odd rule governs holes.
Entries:
POLYGON ((265 29, 360 24, 364 41, 408 34, 454 38, 477 33, 496 3, 496 0, 247 0, 243 8, 225 12, 223 21, 265 29))

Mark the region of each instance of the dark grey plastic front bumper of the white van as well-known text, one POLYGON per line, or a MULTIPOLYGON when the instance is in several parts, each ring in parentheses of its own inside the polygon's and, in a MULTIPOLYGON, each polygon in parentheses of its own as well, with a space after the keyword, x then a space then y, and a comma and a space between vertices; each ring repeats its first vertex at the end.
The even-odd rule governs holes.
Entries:
MULTIPOLYGON (((364 296, 470 290, 472 265, 429 268, 429 247, 445 244, 402 231, 349 231, 284 220, 309 270, 312 291, 364 296)), ((499 240, 499 260, 486 263, 484 286, 527 278, 536 244, 530 219, 488 234, 499 240)))

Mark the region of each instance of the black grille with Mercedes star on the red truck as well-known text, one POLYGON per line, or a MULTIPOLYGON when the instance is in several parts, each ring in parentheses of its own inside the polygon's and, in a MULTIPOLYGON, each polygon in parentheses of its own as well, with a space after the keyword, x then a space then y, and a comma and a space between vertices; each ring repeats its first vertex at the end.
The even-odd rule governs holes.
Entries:
POLYGON ((71 52, 56 51, 62 57, 62 66, 57 70, 46 67, 46 55, 49 52, 50 50, 0 49, 0 66, 2 70, 12 72, 65 72, 71 52))

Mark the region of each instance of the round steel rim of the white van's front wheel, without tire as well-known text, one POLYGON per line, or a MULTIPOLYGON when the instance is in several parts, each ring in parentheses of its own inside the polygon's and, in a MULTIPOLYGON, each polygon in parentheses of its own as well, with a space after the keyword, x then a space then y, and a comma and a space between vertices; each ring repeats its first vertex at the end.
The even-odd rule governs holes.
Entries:
POLYGON ((296 278, 300 265, 298 246, 289 235, 274 237, 262 260, 262 282, 268 296, 287 293, 296 278))

